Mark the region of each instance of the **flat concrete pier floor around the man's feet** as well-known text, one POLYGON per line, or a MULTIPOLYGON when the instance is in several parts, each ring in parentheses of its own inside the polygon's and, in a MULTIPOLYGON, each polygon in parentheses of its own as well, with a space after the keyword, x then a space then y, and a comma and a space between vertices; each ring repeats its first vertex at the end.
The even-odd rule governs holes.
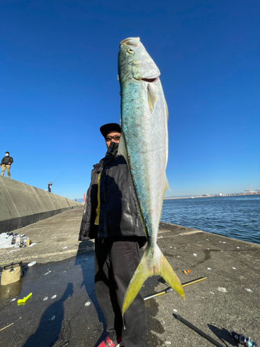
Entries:
MULTIPOLYGON (((1 346, 94 347, 104 337, 94 292, 94 243, 78 242, 82 213, 83 207, 68 210, 21 228, 35 246, 0 251, 2 265, 37 261, 19 282, 0 287, 0 330, 14 323, 0 332, 1 346), (18 307, 17 299, 29 293, 30 301, 18 307)), ((185 301, 174 291, 146 301, 148 347, 213 346, 175 314, 223 346, 236 346, 230 330, 260 345, 260 246, 167 223, 160 224, 158 236, 182 283, 209 278, 184 287, 185 301)), ((159 276, 149 278, 142 294, 166 287, 159 276)))

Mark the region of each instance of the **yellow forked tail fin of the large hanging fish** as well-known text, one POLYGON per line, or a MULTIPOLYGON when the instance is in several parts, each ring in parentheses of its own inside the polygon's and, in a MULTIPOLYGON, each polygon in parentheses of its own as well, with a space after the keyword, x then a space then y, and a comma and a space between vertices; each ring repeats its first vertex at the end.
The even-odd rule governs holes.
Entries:
POLYGON ((148 277, 157 275, 162 276, 168 285, 177 291, 177 293, 180 294, 180 296, 182 296, 182 298, 185 300, 182 284, 159 247, 156 245, 155 250, 152 251, 151 247, 147 246, 146 251, 144 251, 144 255, 141 257, 141 262, 139 262, 134 276, 132 276, 132 279, 128 285, 128 289, 125 292, 122 316, 125 311, 128 310, 131 303, 135 300, 135 297, 139 293, 142 285, 144 285, 146 279, 148 277))

